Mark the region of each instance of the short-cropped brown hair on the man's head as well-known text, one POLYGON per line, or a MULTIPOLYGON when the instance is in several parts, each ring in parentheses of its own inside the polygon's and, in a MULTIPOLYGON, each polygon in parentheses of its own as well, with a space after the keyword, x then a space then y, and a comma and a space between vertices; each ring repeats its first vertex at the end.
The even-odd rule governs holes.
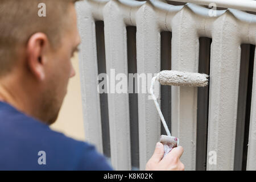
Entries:
POLYGON ((18 47, 26 45, 36 32, 46 34, 56 48, 68 22, 68 6, 76 1, 0 0, 0 76, 13 68, 18 47), (46 17, 38 16, 39 3, 46 4, 46 17))

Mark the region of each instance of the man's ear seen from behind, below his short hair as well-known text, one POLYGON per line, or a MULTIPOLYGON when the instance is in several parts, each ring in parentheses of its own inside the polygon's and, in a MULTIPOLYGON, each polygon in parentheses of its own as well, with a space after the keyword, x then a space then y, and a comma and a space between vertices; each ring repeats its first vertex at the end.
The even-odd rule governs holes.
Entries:
POLYGON ((46 34, 33 34, 27 43, 27 64, 31 73, 40 81, 46 77, 46 49, 48 38, 46 34))

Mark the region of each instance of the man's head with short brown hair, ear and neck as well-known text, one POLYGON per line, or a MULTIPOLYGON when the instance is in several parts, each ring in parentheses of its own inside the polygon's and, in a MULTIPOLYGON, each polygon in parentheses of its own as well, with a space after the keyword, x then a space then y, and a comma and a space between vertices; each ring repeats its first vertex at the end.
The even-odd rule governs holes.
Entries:
POLYGON ((2 99, 11 96, 11 104, 48 124, 56 121, 68 80, 75 75, 71 57, 80 44, 75 2, 0 1, 2 99), (38 16, 42 2, 45 17, 38 16))

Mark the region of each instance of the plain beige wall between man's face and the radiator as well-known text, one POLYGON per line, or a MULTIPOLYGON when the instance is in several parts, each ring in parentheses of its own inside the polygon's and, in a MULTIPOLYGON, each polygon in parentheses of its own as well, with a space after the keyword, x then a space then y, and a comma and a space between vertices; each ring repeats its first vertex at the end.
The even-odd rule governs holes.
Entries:
POLYGON ((72 59, 76 76, 69 80, 68 93, 64 99, 57 121, 51 128, 65 135, 85 140, 84 123, 82 121, 82 101, 80 89, 79 60, 77 54, 72 59))

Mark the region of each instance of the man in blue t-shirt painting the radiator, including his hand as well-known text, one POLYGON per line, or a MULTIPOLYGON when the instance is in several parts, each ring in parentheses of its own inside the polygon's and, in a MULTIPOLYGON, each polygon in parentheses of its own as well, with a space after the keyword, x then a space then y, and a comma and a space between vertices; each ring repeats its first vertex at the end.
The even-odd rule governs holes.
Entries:
MULTIPOLYGON (((94 146, 49 129, 56 121, 80 44, 74 0, 0 1, 0 169, 111 170, 94 146)), ((147 170, 182 170, 182 147, 163 157, 156 144, 147 170)))

